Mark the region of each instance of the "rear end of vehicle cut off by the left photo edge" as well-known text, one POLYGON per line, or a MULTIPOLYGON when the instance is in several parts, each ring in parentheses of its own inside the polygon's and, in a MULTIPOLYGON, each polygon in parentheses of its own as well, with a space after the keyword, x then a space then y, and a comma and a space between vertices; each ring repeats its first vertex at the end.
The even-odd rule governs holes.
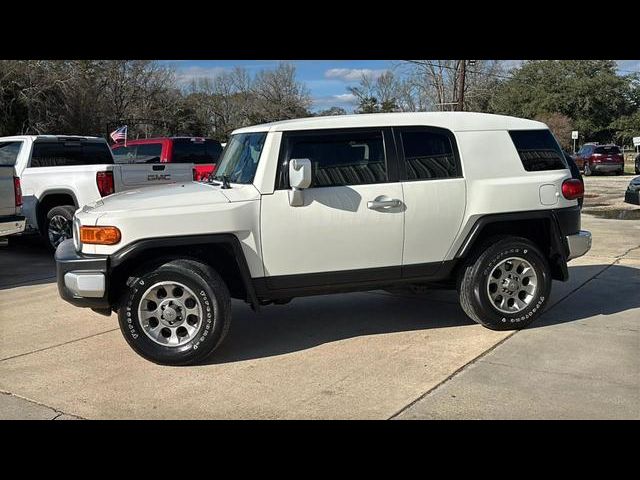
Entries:
POLYGON ((11 142, 0 142, 0 237, 24 230, 22 189, 15 172, 19 149, 11 142))

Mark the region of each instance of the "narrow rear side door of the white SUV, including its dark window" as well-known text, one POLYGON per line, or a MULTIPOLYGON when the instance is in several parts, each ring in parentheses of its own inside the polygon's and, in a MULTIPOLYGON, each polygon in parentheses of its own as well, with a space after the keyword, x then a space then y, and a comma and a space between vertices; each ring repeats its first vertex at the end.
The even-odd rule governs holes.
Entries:
POLYGON ((395 127, 406 204, 403 277, 437 274, 464 218, 466 182, 445 129, 395 127))

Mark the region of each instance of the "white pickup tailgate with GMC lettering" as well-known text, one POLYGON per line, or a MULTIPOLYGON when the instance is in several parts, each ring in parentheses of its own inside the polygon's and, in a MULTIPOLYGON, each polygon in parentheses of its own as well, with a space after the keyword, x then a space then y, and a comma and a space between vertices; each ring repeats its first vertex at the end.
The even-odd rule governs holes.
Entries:
POLYGON ((193 180, 192 163, 116 164, 114 167, 116 192, 193 180))

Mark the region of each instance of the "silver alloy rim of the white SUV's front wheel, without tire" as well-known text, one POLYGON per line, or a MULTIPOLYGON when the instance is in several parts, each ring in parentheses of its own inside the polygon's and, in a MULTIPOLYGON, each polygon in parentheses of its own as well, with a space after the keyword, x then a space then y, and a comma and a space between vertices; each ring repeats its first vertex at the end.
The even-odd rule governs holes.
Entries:
POLYGON ((144 333, 165 347, 180 347, 193 340, 204 311, 196 294, 178 282, 159 282, 147 289, 138 304, 144 333))

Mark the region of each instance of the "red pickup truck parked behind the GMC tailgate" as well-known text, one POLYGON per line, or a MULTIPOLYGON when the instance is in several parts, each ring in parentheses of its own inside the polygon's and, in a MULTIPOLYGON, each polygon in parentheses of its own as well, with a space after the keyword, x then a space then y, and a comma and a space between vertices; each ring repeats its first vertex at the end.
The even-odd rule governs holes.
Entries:
POLYGON ((193 163, 193 179, 212 175, 222 153, 217 140, 201 137, 162 137, 128 140, 111 146, 116 163, 193 163))

